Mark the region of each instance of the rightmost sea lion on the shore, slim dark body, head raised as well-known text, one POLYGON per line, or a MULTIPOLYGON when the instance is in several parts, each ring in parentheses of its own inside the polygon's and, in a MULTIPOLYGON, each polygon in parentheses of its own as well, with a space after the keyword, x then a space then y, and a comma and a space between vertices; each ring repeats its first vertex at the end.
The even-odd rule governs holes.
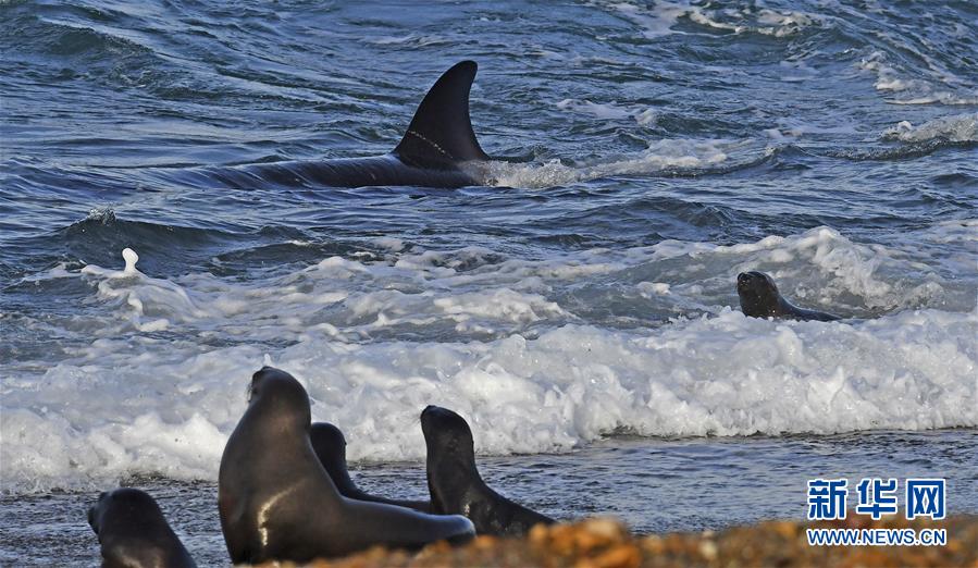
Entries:
POLYGON ((428 489, 432 511, 461 514, 475 532, 520 535, 554 519, 507 499, 488 487, 475 467, 472 430, 457 413, 438 406, 421 412, 421 430, 428 445, 428 489))

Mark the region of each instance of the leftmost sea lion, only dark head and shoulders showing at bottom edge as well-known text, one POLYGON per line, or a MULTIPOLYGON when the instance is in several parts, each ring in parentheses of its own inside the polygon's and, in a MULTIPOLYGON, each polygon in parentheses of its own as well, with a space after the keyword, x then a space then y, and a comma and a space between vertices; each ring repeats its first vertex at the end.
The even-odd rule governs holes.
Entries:
POLYGON ((163 511, 146 492, 132 487, 99 495, 88 509, 104 568, 196 568, 163 511))

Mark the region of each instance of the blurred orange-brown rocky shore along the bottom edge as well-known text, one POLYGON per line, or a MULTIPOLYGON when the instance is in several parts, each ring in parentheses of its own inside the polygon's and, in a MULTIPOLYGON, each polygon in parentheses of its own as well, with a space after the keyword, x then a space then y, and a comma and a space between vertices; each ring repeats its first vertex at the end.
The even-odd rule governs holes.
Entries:
POLYGON ((872 521, 850 515, 832 522, 768 521, 721 532, 633 535, 612 519, 535 527, 524 539, 480 536, 466 546, 436 543, 420 553, 373 548, 315 568, 354 567, 973 567, 978 568, 978 516, 941 521, 872 521), (810 546, 808 528, 946 529, 943 546, 810 546))

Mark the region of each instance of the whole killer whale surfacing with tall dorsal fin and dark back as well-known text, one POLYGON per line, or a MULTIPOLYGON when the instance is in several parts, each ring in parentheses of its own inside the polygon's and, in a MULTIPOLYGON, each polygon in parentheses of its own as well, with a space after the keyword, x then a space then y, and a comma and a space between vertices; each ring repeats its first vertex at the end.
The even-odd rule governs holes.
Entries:
POLYGON ((469 91, 476 71, 474 61, 462 61, 443 73, 389 153, 247 164, 212 173, 237 187, 253 186, 256 177, 283 185, 324 187, 483 185, 479 162, 490 157, 479 146, 469 116, 469 91))

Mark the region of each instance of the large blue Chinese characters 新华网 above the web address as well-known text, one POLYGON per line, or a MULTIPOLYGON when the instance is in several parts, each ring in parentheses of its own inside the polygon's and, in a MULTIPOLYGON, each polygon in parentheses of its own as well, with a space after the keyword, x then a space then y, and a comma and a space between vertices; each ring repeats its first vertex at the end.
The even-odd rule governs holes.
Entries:
MULTIPOLYGON (((928 517, 941 520, 946 516, 946 493, 943 479, 905 480, 904 510, 907 520, 928 517)), ((899 510, 899 482, 893 478, 864 478, 856 485, 857 515, 869 515, 874 520, 899 510)), ((808 520, 845 519, 849 501, 849 480, 808 480, 808 520)))

